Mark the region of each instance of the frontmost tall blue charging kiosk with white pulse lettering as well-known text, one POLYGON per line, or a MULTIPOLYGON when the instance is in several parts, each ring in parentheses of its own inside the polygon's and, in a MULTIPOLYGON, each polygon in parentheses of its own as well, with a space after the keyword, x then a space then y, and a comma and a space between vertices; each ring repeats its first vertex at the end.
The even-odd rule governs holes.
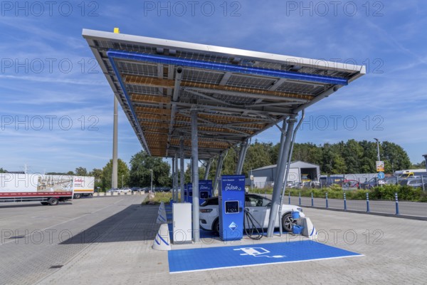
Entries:
POLYGON ((245 175, 223 175, 218 193, 219 236, 223 241, 241 240, 245 207, 245 175))

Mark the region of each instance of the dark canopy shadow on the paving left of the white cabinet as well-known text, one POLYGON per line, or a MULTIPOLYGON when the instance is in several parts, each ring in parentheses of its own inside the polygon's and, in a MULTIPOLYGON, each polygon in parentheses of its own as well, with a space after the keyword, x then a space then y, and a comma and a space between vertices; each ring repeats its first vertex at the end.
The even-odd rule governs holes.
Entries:
POLYGON ((132 204, 60 244, 153 240, 159 230, 158 209, 159 206, 132 204))

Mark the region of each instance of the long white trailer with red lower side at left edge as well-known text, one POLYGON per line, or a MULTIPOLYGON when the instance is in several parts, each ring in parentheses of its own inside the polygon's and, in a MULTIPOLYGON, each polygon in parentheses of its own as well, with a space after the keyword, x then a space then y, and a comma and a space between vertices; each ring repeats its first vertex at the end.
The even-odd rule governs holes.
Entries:
POLYGON ((0 174, 0 202, 41 202, 57 205, 73 199, 73 176, 0 174))

